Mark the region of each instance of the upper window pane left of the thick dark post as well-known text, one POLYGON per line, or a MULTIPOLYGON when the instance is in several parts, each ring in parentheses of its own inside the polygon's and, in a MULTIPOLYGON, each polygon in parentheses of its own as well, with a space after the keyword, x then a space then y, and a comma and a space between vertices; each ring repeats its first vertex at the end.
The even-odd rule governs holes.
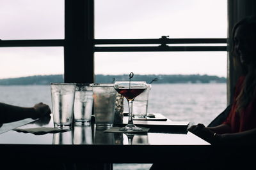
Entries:
POLYGON ((0 2, 0 39, 63 39, 63 0, 0 2))

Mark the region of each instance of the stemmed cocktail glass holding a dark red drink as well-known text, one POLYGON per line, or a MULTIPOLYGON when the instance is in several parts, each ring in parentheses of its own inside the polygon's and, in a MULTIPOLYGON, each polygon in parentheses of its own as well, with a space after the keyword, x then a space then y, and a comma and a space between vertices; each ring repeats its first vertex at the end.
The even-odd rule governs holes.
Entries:
POLYGON ((147 89, 147 83, 145 81, 116 81, 114 84, 116 92, 122 94, 128 101, 129 106, 129 120, 125 127, 122 127, 120 131, 142 131, 140 127, 136 127, 132 120, 132 104, 136 96, 140 95, 145 89, 147 89))

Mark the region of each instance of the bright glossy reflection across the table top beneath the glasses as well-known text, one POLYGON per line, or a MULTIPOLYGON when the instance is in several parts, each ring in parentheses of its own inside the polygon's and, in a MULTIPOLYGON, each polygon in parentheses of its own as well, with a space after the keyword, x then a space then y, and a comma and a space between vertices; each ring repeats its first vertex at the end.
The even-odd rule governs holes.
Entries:
MULTIPOLYGON (((49 120, 37 120, 19 128, 34 127, 53 127, 52 117, 49 120)), ((104 130, 95 128, 94 124, 75 124, 72 131, 44 135, 25 134, 11 130, 0 134, 0 145, 209 145, 209 143, 190 132, 148 132, 147 134, 127 135, 124 133, 104 132, 104 130)))

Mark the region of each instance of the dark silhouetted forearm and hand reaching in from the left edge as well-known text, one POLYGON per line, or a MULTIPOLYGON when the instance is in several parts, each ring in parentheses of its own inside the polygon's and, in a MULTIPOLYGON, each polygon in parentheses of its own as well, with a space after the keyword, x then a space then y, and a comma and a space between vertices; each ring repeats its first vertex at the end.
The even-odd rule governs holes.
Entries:
POLYGON ((24 118, 40 118, 51 114, 47 104, 38 103, 31 108, 13 106, 10 104, 0 103, 0 124, 15 122, 24 118))

